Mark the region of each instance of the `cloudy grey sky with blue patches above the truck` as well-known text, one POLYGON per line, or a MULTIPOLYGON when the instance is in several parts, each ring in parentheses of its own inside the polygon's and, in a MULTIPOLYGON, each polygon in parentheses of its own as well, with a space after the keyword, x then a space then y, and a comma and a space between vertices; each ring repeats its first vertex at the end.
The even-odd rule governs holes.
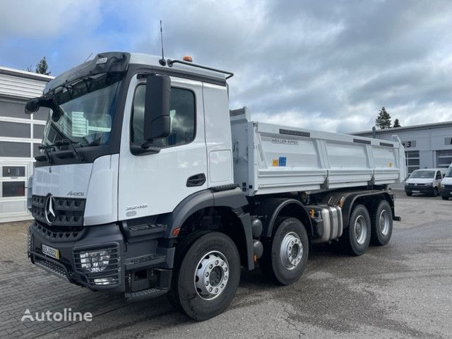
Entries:
POLYGON ((231 108, 327 131, 452 120, 452 1, 6 1, 0 66, 46 56, 52 75, 93 52, 165 54, 236 75, 231 108))

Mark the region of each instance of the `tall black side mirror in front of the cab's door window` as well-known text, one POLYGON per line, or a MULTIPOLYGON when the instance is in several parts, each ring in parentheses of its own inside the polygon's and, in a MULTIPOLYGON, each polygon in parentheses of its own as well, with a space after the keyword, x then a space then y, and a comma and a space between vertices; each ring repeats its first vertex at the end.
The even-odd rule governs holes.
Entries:
POLYGON ((171 119, 169 99, 171 81, 169 76, 148 76, 144 106, 144 138, 152 142, 154 138, 169 136, 171 119))

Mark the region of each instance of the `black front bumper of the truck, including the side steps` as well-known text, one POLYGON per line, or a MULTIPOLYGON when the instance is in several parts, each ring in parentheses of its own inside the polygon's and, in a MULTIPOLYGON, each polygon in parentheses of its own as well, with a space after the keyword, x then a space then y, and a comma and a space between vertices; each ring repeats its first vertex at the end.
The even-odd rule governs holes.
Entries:
POLYGON ((29 228, 28 256, 36 266, 90 290, 136 292, 155 286, 168 288, 174 248, 160 248, 157 238, 130 240, 126 241, 117 224, 57 230, 35 220, 29 228), (57 249, 59 259, 44 254, 42 245, 57 249), (108 264, 100 272, 83 267, 83 254, 90 251, 109 254, 108 264))

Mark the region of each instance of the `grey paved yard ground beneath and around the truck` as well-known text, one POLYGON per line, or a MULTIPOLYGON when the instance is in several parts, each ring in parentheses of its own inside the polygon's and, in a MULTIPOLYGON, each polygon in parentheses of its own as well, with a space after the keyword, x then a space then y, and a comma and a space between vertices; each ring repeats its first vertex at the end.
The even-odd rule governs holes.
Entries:
POLYGON ((2 338, 452 338, 452 200, 396 191, 393 237, 351 257, 315 246, 295 284, 242 271, 231 306, 198 323, 165 296, 127 304, 26 261, 26 224, 0 225, 2 338), (93 321, 20 321, 25 309, 90 311, 93 321), (8 331, 6 331, 8 330, 8 331))

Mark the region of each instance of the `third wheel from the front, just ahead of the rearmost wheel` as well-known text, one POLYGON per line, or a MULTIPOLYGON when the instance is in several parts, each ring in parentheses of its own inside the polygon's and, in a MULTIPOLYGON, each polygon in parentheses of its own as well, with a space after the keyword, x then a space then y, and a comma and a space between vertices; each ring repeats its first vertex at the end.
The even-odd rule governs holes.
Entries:
POLYGON ((361 256, 369 248, 371 220, 367 208, 357 205, 350 214, 350 222, 341 237, 343 246, 352 256, 361 256))

